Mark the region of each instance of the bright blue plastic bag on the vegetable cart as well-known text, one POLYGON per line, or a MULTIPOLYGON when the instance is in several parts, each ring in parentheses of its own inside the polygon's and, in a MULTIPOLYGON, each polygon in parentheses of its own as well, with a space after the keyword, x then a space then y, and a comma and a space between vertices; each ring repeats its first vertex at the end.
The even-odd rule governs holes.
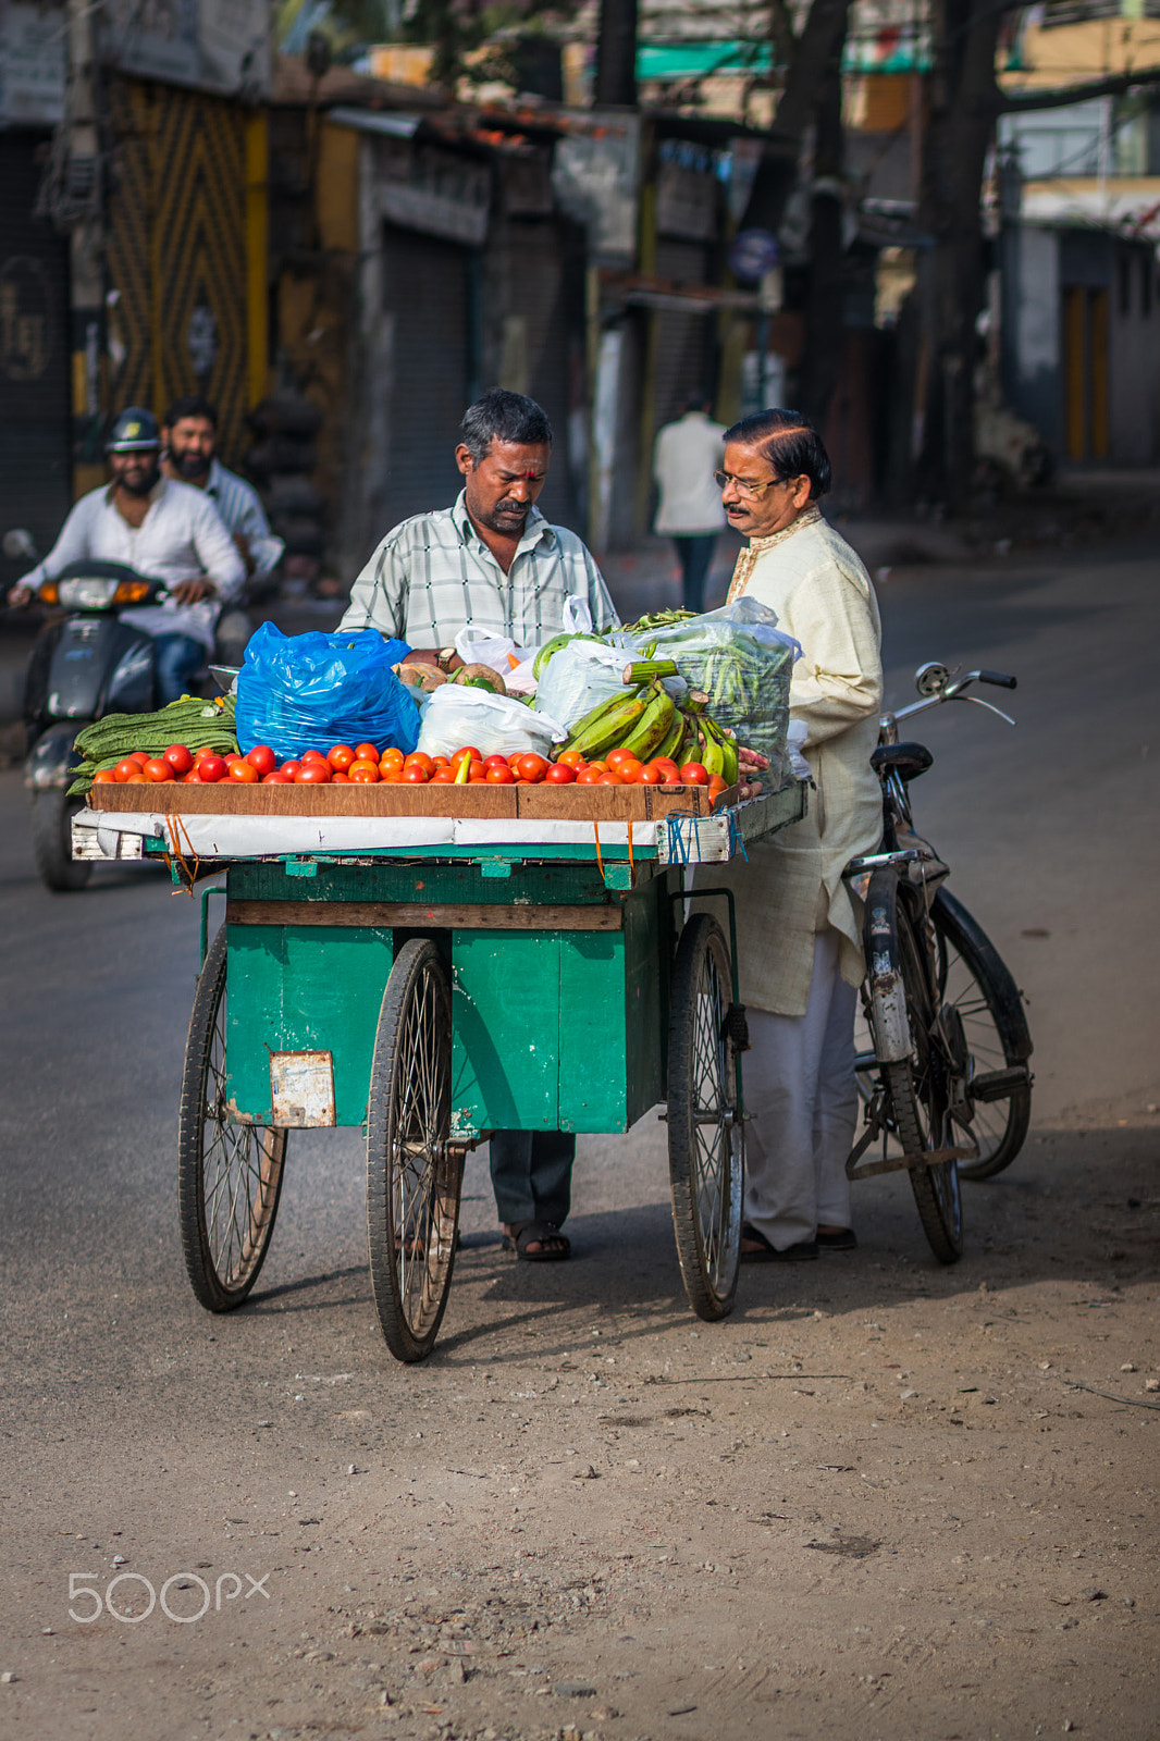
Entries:
POLYGON ((284 635, 261 623, 237 679, 242 754, 268 743, 287 761, 333 743, 374 743, 409 756, 418 742, 418 707, 390 669, 409 651, 406 641, 383 641, 374 629, 284 635))

